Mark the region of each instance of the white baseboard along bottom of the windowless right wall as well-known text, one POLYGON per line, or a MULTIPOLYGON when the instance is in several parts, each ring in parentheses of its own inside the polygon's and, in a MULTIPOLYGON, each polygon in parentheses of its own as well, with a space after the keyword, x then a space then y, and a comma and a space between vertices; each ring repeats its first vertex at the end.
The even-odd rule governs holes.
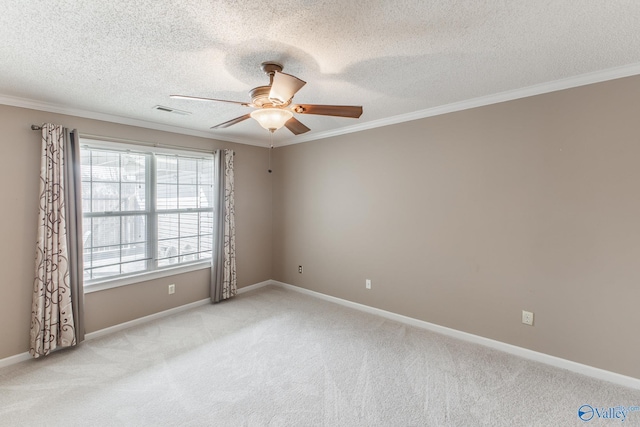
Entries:
POLYGON ((437 332, 443 335, 447 335, 453 338, 472 342, 475 344, 480 344, 485 347, 490 347, 496 350, 503 351, 505 353, 523 357, 525 359, 534 360, 536 362, 544 363, 546 365, 551 365, 556 368, 566 369, 568 371, 586 375, 599 380, 609 381, 614 384, 640 390, 640 379, 638 378, 617 374, 615 372, 605 371, 604 369, 595 368, 589 365, 583 365, 582 363, 573 362, 571 360, 562 359, 560 357, 551 356, 545 353, 529 350, 527 348, 518 347, 518 346, 507 344, 501 341, 492 340, 490 338, 473 335, 467 332, 458 331, 456 329, 447 328, 445 326, 436 325, 434 323, 425 322, 423 320, 414 319, 412 317, 407 317, 400 314, 392 313, 390 311, 381 310, 379 308, 369 307, 367 305, 358 304, 358 303, 344 300, 337 297, 332 297, 330 295, 325 295, 319 292, 310 291, 309 289, 293 286, 288 283, 278 282, 276 280, 272 280, 271 283, 275 286, 279 286, 295 292, 300 292, 305 295, 310 295, 310 296, 313 296, 325 301, 330 301, 336 304, 340 304, 346 307, 351 307, 356 310, 364 311, 366 313, 375 314, 375 315, 384 317, 386 319, 395 320, 397 322, 405 323, 407 325, 415 326, 422 329, 428 329, 433 332, 437 332))

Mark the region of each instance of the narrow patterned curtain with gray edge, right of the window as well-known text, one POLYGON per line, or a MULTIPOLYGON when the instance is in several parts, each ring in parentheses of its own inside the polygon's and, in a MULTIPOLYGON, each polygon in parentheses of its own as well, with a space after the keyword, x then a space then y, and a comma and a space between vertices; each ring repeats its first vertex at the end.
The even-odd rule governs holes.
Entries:
POLYGON ((233 194, 232 150, 216 153, 216 215, 214 221, 211 300, 220 302, 236 295, 236 224, 233 194))

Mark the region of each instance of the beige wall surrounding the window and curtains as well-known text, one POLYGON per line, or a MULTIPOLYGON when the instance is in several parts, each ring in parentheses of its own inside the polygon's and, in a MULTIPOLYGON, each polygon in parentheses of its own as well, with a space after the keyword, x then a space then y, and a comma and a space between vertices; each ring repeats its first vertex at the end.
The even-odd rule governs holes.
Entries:
MULTIPOLYGON (((266 149, 0 105, 0 359, 29 349, 40 170, 40 132, 30 126, 44 122, 112 138, 235 150, 238 286, 271 278, 266 149)), ((87 332, 205 299, 209 279, 207 270, 199 270, 87 294, 87 332), (176 284, 174 295, 167 293, 169 283, 176 284)))

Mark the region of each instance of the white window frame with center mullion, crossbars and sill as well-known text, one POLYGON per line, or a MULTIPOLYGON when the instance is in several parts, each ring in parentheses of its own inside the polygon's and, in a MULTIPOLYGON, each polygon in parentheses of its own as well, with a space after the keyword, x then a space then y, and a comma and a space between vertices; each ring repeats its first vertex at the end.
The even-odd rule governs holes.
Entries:
MULTIPOLYGON (((197 158, 197 159, 207 159, 214 161, 214 153, 208 153, 203 151, 190 151, 183 149, 174 149, 167 147, 158 147, 158 146, 146 146, 146 145, 138 145, 133 143, 121 143, 121 142, 111 142, 111 141, 103 141, 89 138, 80 138, 80 149, 90 147, 94 149, 102 149, 102 150, 111 150, 111 151, 119 151, 119 152, 130 152, 132 154, 151 154, 151 157, 154 157, 156 154, 160 155, 170 155, 177 157, 189 157, 189 158, 197 158)), ((203 211, 212 211, 215 216, 215 206, 211 208, 197 208, 197 209, 172 209, 172 210, 161 210, 157 209, 155 193, 156 193, 156 161, 151 160, 147 162, 146 170, 146 198, 148 202, 148 206, 146 206, 145 211, 133 211, 133 212, 118 212, 117 214, 113 214, 114 216, 122 216, 123 214, 144 214, 147 216, 147 242, 151 244, 151 252, 152 252, 152 260, 150 263, 147 263, 147 270, 132 273, 132 274, 124 274, 118 276, 111 276, 104 279, 99 279, 95 281, 85 282, 84 291, 85 293, 97 292, 105 289, 111 289, 119 286, 126 286, 135 283, 139 283, 146 280, 159 279, 162 277, 173 276, 176 274, 187 273, 190 271, 202 270, 206 268, 211 268, 213 256, 211 258, 206 258, 202 260, 191 261, 188 263, 178 263, 176 265, 163 266, 158 267, 157 265, 157 256, 158 256, 158 235, 157 235, 157 217, 162 213, 173 213, 173 212, 203 212, 203 211)), ((215 176, 215 173, 214 173, 215 176)), ((213 186, 217 185, 216 182, 213 182, 213 186)), ((215 194, 215 193, 213 193, 215 194)), ((215 200, 213 198, 212 200, 215 200)), ((96 216, 91 213, 90 216, 96 216)), ((109 216, 109 214, 102 215, 109 216)), ((84 218, 84 213, 83 213, 84 218)), ((213 231, 213 229, 212 229, 213 231)), ((149 244, 148 243, 148 244, 149 244)), ((212 245, 213 246, 213 245, 212 245)), ((213 254, 213 247, 212 247, 213 254)), ((83 266, 84 267, 84 266, 83 266)))

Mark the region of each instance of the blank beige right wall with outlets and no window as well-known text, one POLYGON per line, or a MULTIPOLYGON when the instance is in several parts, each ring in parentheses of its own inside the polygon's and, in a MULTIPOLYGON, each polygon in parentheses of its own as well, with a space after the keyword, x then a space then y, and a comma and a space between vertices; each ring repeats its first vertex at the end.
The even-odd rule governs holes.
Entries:
POLYGON ((633 77, 278 148, 274 279, 640 378, 639 112, 633 77))

